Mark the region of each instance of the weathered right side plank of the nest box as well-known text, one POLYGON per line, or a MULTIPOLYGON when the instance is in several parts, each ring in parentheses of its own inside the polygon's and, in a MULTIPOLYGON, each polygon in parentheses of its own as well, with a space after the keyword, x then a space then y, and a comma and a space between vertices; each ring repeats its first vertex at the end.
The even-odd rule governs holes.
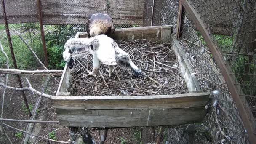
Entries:
POLYGON ((173 46, 175 55, 179 62, 179 71, 181 72, 181 75, 187 84, 187 88, 189 89, 189 92, 201 91, 198 80, 195 77, 195 75, 193 75, 194 72, 190 67, 190 64, 186 58, 186 55, 184 55, 185 52, 182 50, 179 44, 179 41, 176 39, 174 35, 171 36, 171 39, 173 42, 172 46, 173 46))

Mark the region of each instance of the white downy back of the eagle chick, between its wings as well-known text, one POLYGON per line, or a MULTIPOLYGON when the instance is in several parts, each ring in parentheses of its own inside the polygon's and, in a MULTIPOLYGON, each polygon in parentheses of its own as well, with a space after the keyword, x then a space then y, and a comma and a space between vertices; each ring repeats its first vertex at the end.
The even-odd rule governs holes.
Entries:
POLYGON ((99 61, 106 65, 117 65, 115 48, 111 45, 111 42, 114 40, 107 37, 107 35, 97 35, 94 38, 99 40, 99 47, 95 51, 95 55, 99 61))

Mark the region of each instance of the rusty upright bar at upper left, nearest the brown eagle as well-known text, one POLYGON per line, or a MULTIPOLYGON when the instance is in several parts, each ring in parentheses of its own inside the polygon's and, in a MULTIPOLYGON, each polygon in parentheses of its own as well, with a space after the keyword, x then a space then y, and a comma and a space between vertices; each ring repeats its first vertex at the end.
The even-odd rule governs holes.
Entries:
POLYGON ((43 16, 42 16, 42 11, 41 11, 41 2, 40 0, 37 0, 37 8, 38 8, 38 19, 39 19, 39 24, 40 24, 40 31, 41 31, 41 38, 42 38, 42 44, 43 44, 43 53, 45 56, 45 66, 48 66, 48 56, 47 56, 47 48, 46 48, 46 43, 45 43, 45 32, 43 30, 43 16))

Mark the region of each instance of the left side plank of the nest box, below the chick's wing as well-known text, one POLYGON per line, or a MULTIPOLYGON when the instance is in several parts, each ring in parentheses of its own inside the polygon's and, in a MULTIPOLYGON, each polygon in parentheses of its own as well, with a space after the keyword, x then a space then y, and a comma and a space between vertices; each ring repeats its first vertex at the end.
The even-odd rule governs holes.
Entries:
POLYGON ((68 92, 69 91, 69 80, 71 78, 71 70, 67 66, 64 67, 63 74, 61 75, 61 80, 59 83, 59 87, 56 93, 56 96, 59 95, 59 92, 68 92))

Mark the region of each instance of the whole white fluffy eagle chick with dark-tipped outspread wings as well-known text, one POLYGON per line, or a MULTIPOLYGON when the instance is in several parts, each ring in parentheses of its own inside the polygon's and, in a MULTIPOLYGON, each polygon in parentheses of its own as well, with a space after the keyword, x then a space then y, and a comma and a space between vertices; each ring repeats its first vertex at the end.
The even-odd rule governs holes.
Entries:
MULTIPOLYGON (((78 56, 86 56, 93 53, 93 70, 88 75, 98 72, 100 63, 109 66, 109 77, 118 65, 132 75, 141 76, 141 70, 131 61, 128 53, 118 47, 115 40, 107 35, 97 35, 91 38, 71 38, 64 45, 63 58, 69 68, 74 65, 78 56)), ((87 75, 86 75, 87 76, 87 75)))

